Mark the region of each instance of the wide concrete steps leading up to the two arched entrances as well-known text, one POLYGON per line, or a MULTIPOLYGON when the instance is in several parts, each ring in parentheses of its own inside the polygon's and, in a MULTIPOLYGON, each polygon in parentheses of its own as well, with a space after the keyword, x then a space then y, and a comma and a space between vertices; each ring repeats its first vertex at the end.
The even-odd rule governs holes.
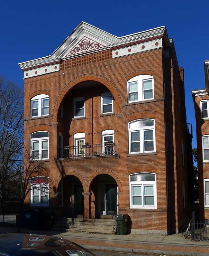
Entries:
POLYGON ((58 218, 53 225, 54 231, 86 232, 99 234, 114 234, 112 219, 90 219, 84 222, 83 218, 58 218))

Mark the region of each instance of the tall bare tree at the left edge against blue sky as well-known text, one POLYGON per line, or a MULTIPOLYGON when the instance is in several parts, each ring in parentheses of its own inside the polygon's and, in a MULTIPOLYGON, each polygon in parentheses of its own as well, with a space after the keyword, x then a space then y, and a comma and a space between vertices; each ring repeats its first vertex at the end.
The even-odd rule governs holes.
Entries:
POLYGON ((23 164, 23 90, 0 76, 0 197, 23 164))

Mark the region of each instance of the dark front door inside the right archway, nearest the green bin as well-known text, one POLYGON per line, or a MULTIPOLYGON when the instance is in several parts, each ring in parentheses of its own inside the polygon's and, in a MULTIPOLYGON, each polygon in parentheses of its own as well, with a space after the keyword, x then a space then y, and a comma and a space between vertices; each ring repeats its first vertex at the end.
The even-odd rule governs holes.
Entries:
POLYGON ((105 212, 113 215, 117 206, 117 184, 105 184, 105 212))

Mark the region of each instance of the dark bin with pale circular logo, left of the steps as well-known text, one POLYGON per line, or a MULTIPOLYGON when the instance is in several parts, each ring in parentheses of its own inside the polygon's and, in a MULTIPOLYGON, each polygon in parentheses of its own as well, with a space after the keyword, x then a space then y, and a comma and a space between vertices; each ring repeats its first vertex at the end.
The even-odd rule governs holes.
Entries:
POLYGON ((22 227, 40 229, 43 227, 43 212, 36 209, 22 210, 22 227))

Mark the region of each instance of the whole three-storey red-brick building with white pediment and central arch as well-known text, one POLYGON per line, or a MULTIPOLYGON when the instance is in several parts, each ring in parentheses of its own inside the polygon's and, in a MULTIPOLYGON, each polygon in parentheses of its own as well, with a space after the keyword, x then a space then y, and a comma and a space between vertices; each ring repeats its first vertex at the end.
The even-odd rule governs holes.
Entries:
POLYGON ((51 175, 33 183, 52 192, 33 189, 26 207, 88 221, 119 204, 129 232, 177 232, 191 134, 166 27, 116 37, 82 22, 52 55, 19 65, 25 147, 51 175))

